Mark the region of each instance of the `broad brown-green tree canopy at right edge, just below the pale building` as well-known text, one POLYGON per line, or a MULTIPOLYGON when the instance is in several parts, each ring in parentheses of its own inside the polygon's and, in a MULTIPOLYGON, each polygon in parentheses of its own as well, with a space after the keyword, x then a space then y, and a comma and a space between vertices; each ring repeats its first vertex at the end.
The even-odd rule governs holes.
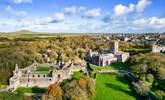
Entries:
POLYGON ((132 65, 131 71, 141 80, 147 80, 147 77, 165 79, 165 55, 163 54, 147 53, 135 55, 129 59, 129 63, 132 65))

